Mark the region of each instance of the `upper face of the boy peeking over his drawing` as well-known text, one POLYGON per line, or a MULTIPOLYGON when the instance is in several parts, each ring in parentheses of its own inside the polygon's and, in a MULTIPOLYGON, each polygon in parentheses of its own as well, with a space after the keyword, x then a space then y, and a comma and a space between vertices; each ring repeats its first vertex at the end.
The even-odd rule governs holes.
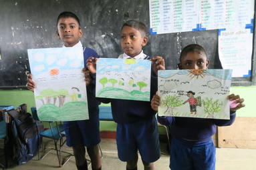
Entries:
POLYGON ((180 59, 179 69, 208 69, 208 66, 205 53, 190 52, 180 59))

